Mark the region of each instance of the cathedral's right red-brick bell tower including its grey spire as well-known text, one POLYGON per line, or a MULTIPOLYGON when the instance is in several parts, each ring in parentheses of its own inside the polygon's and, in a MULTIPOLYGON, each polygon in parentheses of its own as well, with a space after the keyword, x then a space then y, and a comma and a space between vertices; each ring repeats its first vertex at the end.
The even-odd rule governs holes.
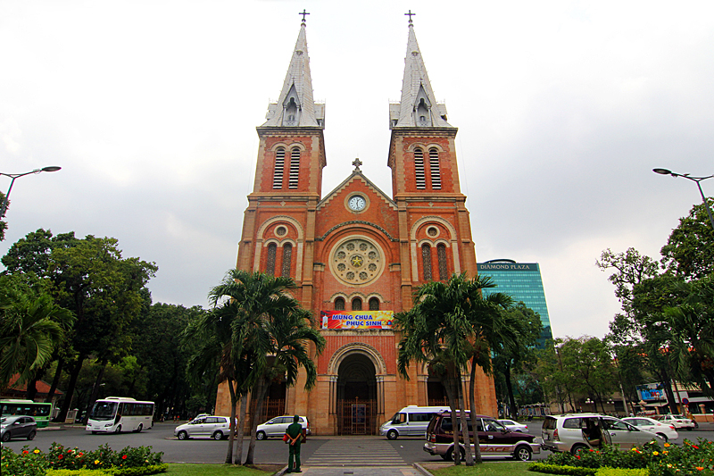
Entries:
POLYGON ((403 305, 412 288, 452 273, 477 274, 466 196, 461 194, 454 140, 458 129, 436 102, 419 50, 413 13, 404 58, 402 97, 389 104, 392 131, 387 165, 402 234, 403 305))

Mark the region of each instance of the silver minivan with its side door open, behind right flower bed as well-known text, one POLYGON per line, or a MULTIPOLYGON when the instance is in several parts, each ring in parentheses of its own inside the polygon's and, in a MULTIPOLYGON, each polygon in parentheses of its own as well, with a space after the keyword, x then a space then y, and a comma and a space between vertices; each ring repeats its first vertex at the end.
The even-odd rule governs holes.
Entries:
POLYGON ((569 451, 616 445, 630 449, 660 438, 630 423, 599 413, 566 413, 548 415, 543 422, 543 447, 551 451, 569 451))

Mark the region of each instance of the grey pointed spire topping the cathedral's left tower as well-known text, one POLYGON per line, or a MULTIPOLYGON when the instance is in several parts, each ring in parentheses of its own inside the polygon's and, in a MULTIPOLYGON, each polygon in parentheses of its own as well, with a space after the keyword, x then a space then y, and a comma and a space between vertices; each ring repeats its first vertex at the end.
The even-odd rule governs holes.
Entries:
POLYGON ((307 54, 305 15, 300 24, 300 33, 295 51, 287 68, 285 82, 277 103, 268 104, 268 121, 262 127, 322 127, 324 128, 325 104, 315 104, 312 99, 310 58, 307 54))

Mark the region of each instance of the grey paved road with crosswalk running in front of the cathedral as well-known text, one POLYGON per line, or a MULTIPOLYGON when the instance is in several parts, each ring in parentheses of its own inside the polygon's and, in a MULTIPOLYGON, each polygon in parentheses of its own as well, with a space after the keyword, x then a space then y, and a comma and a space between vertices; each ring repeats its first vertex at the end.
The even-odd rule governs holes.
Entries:
MULTIPOLYGON (((46 451, 53 441, 65 447, 79 447, 93 450, 104 443, 112 449, 124 447, 151 446, 154 451, 162 451, 163 459, 170 463, 222 463, 228 449, 228 441, 212 439, 190 439, 179 441, 173 436, 173 422, 163 422, 154 425, 151 430, 141 433, 121 433, 120 435, 92 435, 84 427, 65 427, 63 430, 43 430, 37 433, 34 441, 13 439, 6 443, 14 451, 28 445, 46 451)), ((539 435, 540 422, 528 424, 531 434, 539 435)), ((680 437, 673 441, 681 444, 684 438, 696 441, 697 438, 714 440, 714 425, 710 429, 700 431, 682 431, 680 437)), ((364 467, 367 465, 409 467, 411 463, 439 462, 441 458, 425 453, 421 448, 424 440, 420 438, 399 438, 394 441, 379 437, 312 437, 303 445, 303 463, 311 468, 327 467, 338 464, 345 467, 364 467)), ((247 451, 248 440, 244 441, 244 451, 247 451)), ((245 453, 244 453, 245 455, 245 453)), ((550 452, 534 455, 535 459, 543 459, 550 452)), ((256 442, 256 463, 284 463, 287 459, 287 449, 279 438, 256 442)), ((312 471, 312 470, 311 470, 312 471)), ((317 471, 317 470, 315 470, 317 471)), ((312 472, 311 472, 312 473, 312 472)), ((314 473, 317 476, 317 473, 314 473)), ((340 474, 343 474, 342 472, 340 474)), ((353 472, 358 476, 357 472, 353 472)))

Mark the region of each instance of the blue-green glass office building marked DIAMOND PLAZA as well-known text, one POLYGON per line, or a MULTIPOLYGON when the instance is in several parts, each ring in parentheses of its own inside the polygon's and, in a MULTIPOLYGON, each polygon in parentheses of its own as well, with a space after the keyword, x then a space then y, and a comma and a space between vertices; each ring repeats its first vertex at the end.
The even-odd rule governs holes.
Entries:
POLYGON ((540 314, 543 333, 538 339, 538 347, 544 347, 545 341, 552 339, 552 331, 538 263, 491 260, 477 263, 477 270, 480 276, 490 276, 497 285, 496 288, 484 289, 484 296, 495 292, 505 293, 511 295, 515 302, 523 301, 527 307, 540 314))

